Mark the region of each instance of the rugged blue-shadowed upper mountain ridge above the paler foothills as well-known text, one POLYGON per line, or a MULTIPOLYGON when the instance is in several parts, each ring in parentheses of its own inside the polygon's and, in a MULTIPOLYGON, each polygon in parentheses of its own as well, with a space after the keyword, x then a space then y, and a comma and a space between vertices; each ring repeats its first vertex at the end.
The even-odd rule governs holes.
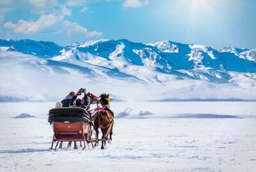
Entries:
POLYGON ((128 64, 159 68, 172 74, 172 71, 180 69, 214 69, 256 73, 256 49, 227 47, 218 51, 204 45, 186 45, 171 41, 143 44, 133 43, 127 39, 100 39, 74 43, 70 47, 61 47, 52 42, 30 39, 19 41, 0 39, 0 47, 1 51, 22 52, 44 59, 51 58, 53 61, 70 62, 70 59, 89 61, 101 57, 109 61, 109 63, 105 61, 105 64, 111 64, 113 68, 118 69, 120 69, 120 62, 115 61, 124 59, 128 64))

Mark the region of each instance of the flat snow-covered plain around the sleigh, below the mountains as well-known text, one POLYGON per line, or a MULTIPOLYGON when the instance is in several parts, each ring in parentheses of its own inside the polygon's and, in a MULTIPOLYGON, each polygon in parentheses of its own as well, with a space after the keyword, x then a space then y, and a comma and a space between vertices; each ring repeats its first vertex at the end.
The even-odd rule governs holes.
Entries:
POLYGON ((0 171, 256 171, 255 102, 113 103, 112 143, 84 151, 50 150, 54 104, 0 103, 0 171))

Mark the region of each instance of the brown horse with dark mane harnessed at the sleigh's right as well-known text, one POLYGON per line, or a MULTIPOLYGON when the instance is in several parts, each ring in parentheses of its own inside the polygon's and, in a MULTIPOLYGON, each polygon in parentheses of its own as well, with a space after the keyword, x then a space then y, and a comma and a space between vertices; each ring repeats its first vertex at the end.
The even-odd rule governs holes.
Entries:
POLYGON ((109 111, 108 103, 106 99, 108 98, 108 94, 102 94, 100 95, 100 103, 103 108, 98 108, 95 115, 93 115, 94 120, 94 129, 96 132, 96 142, 95 146, 99 144, 99 129, 102 132, 102 144, 101 149, 104 149, 104 146, 106 145, 106 140, 108 140, 108 143, 111 143, 112 141, 112 134, 113 134, 113 126, 114 126, 114 119, 113 115, 111 114, 111 111, 109 111), (100 115, 99 115, 100 113, 100 115), (109 139, 108 139, 109 136, 109 139))

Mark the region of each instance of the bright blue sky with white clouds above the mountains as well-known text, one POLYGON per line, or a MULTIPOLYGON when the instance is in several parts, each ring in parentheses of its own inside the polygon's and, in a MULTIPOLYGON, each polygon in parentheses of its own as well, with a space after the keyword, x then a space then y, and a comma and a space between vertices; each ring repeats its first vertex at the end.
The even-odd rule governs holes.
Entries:
POLYGON ((2 0, 0 38, 256 48, 255 0, 2 0))

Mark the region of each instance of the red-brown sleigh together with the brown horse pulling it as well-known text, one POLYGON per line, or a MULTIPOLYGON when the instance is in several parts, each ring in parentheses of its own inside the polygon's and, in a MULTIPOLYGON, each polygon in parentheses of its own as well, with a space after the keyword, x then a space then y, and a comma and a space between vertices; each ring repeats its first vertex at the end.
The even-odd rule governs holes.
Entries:
POLYGON ((61 148, 64 141, 69 143, 74 141, 75 147, 76 141, 80 141, 81 146, 81 143, 83 143, 83 150, 86 148, 86 143, 88 148, 90 144, 94 148, 99 145, 99 141, 102 141, 102 149, 104 149, 107 140, 108 143, 111 143, 114 120, 108 104, 104 104, 105 98, 101 96, 99 102, 102 107, 97 104, 97 108, 93 110, 86 111, 79 107, 51 109, 48 118, 48 122, 52 124, 53 129, 51 149, 54 142, 57 142, 54 150, 56 150, 59 143, 59 148, 61 148), (99 139, 99 129, 102 131, 101 139, 99 139))

